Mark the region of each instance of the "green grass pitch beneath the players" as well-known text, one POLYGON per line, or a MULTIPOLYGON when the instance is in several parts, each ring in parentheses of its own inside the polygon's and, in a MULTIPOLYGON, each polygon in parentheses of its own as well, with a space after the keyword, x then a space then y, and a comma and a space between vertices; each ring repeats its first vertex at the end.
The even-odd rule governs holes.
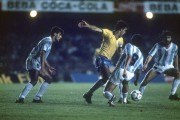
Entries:
MULTIPOLYGON (((39 84, 25 99, 15 99, 24 84, 0 84, 0 120, 180 120, 180 101, 168 99, 171 84, 149 84, 140 102, 109 107, 102 95, 103 87, 92 97, 93 104, 85 103, 82 95, 92 84, 56 83, 49 86, 42 100, 32 103, 39 84)), ((130 90, 137 87, 130 84, 130 90)), ((117 98, 118 88, 113 92, 117 98)), ((179 89, 178 89, 178 93, 179 89)), ((130 95, 129 95, 130 97, 130 95)), ((117 100, 116 100, 117 101, 117 100)))

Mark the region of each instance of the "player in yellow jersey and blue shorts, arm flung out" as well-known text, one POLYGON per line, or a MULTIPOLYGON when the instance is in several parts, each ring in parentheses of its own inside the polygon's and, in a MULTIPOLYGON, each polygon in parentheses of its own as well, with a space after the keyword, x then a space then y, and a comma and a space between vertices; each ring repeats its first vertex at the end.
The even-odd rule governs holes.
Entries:
POLYGON ((104 85, 114 66, 111 63, 111 58, 118 50, 118 52, 122 52, 122 45, 124 43, 122 36, 126 33, 127 24, 126 22, 119 20, 116 23, 114 31, 109 29, 101 29, 94 25, 90 25, 86 21, 82 20, 78 24, 79 28, 88 28, 95 32, 102 33, 103 40, 101 46, 99 48, 99 54, 96 56, 95 60, 95 67, 97 68, 98 72, 102 76, 93 86, 90 88, 84 95, 83 98, 86 100, 87 103, 91 104, 91 97, 93 93, 102 85, 104 85))

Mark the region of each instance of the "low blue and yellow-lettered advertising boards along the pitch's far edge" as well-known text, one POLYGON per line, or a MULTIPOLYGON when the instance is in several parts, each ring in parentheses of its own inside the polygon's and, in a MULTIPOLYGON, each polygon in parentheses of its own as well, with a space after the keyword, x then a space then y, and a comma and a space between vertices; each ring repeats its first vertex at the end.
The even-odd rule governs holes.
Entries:
MULTIPOLYGON (((144 78, 145 74, 142 74, 139 82, 141 82, 144 78)), ((84 73, 71 73, 70 79, 74 83, 94 83, 96 82, 100 76, 98 74, 84 74, 84 73)), ((41 77, 38 78, 38 82, 42 83, 43 79, 41 77)), ((133 83, 135 78, 133 78, 130 82, 133 83)), ((171 83, 173 77, 160 75, 152 80, 153 83, 171 83)), ((28 73, 17 73, 17 74, 0 74, 0 84, 13 84, 13 83, 27 83, 30 81, 30 77, 28 73)), ((69 80, 68 80, 69 81, 69 80)))

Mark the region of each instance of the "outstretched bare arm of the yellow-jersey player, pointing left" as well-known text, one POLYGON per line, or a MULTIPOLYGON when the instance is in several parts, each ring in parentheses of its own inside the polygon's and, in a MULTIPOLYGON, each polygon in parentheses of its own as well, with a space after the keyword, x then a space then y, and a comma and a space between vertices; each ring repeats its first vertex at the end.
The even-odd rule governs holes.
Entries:
POLYGON ((83 28, 84 27, 84 28, 88 28, 88 29, 90 29, 92 31, 96 31, 96 32, 102 33, 102 29, 100 29, 100 28, 98 28, 98 27, 96 27, 94 25, 90 25, 89 23, 87 23, 84 20, 82 20, 81 22, 78 23, 78 27, 79 28, 83 28))

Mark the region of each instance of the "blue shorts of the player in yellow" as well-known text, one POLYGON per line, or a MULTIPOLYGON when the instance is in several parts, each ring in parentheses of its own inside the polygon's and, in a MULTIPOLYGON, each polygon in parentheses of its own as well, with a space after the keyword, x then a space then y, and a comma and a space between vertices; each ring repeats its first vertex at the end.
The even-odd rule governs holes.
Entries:
POLYGON ((109 68, 113 67, 113 64, 111 63, 111 60, 109 60, 107 57, 98 55, 94 61, 94 65, 99 71, 101 69, 101 66, 106 65, 109 68))

